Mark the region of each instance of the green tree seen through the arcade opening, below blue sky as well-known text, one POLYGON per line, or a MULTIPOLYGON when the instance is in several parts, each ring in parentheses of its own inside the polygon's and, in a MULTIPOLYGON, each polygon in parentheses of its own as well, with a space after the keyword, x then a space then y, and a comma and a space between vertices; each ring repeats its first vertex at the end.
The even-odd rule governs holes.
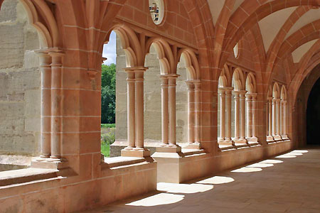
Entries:
POLYGON ((115 123, 116 65, 102 65, 101 77, 101 123, 115 123))

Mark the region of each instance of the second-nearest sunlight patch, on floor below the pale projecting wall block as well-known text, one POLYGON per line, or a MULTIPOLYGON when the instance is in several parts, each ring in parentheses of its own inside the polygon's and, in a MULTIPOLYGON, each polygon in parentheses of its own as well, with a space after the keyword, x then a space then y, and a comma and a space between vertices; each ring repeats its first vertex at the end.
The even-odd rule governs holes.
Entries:
POLYGON ((206 192, 212 190, 213 185, 203 185, 203 184, 178 184, 169 182, 159 182, 157 185, 157 190, 165 191, 169 193, 183 193, 192 194, 198 192, 206 192))

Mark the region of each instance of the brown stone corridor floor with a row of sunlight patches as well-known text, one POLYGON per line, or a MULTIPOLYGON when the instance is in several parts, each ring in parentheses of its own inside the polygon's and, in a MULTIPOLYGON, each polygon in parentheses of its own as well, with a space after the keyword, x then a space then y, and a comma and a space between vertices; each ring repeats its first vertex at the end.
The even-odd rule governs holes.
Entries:
POLYGON ((158 191, 92 212, 320 212, 320 147, 158 191))

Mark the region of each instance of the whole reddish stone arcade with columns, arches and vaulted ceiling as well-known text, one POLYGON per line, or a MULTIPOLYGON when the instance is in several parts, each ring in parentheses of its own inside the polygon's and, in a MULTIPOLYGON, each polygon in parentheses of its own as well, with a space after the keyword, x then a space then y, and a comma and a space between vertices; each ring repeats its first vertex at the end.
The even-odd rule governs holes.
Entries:
POLYGON ((309 140, 319 0, 0 7, 0 212, 94 209, 309 140), (117 132, 113 156, 104 158, 101 64, 112 31, 117 132))

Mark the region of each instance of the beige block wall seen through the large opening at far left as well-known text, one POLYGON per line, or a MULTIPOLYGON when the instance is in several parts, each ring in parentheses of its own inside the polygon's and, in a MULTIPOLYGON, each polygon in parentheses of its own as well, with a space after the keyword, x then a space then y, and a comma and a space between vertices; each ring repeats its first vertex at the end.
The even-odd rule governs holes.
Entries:
POLYGON ((0 11, 0 154, 38 155, 40 140, 39 48, 17 0, 0 11))

